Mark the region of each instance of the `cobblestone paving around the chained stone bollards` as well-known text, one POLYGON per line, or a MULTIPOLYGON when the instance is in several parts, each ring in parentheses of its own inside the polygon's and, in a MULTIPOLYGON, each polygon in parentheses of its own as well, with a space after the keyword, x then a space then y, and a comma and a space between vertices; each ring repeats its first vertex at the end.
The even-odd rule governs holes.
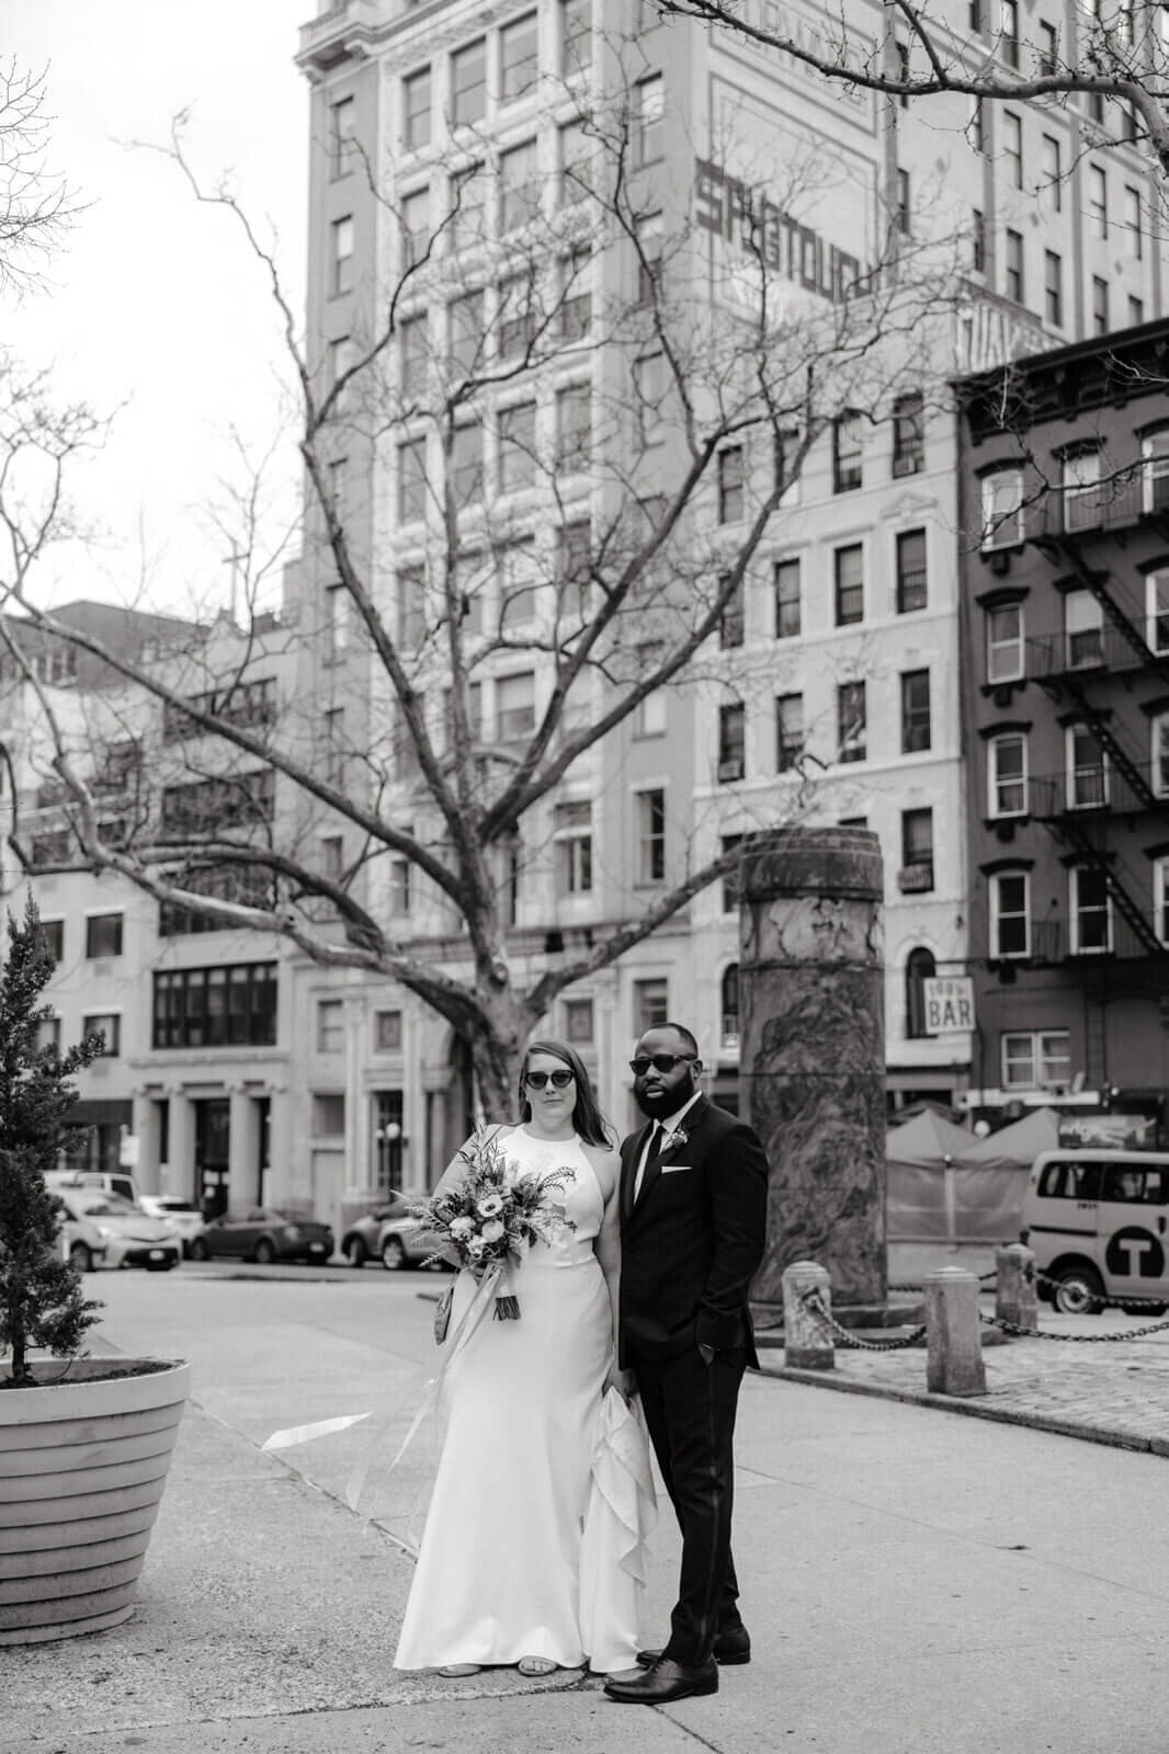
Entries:
MULTIPOLYGON (((993 1300, 983 1300, 983 1312, 993 1316, 993 1300)), ((1144 1338, 1104 1338, 1148 1324, 1148 1319, 1122 1310, 1057 1316, 1041 1305, 1041 1331, 1060 1338, 997 1344, 997 1331, 983 1328, 986 1394, 971 1398, 927 1393, 925 1342, 900 1352, 837 1347, 836 1366, 823 1372, 790 1370, 783 1349, 760 1351, 760 1363, 767 1373, 793 1382, 883 1394, 1169 1456, 1169 1330, 1144 1338), (990 1333, 993 1338, 988 1338, 990 1333), (1076 1342, 1072 1335, 1088 1335, 1099 1344, 1076 1342)))

